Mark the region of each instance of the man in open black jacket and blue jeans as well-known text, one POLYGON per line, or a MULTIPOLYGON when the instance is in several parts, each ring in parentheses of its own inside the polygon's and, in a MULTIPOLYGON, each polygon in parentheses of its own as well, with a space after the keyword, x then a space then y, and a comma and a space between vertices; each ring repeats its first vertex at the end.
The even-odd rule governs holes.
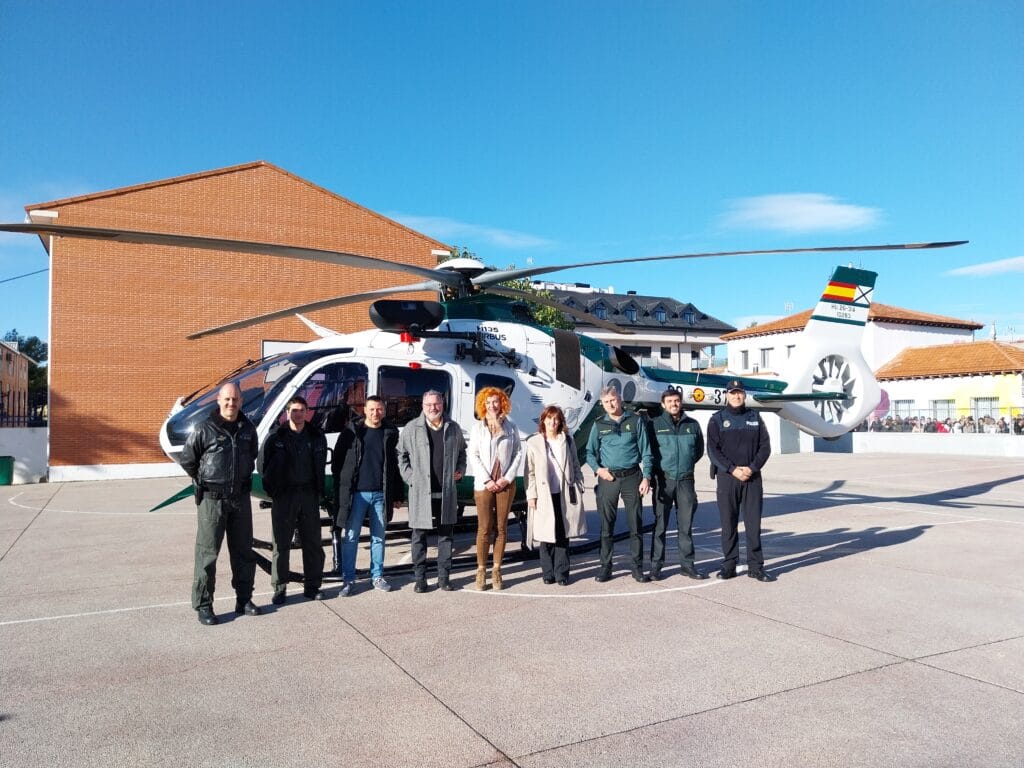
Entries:
POLYGON ((352 592, 362 522, 370 518, 370 578, 375 590, 390 592, 384 579, 384 530, 402 497, 398 474, 398 429, 384 419, 384 400, 367 397, 365 419, 338 434, 331 459, 335 487, 335 526, 343 531, 341 596, 352 592))

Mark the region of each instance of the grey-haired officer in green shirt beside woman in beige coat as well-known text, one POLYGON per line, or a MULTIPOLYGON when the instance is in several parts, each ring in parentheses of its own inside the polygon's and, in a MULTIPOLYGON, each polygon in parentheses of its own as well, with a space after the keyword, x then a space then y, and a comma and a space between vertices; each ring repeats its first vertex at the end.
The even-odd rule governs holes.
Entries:
POLYGON ((601 391, 604 416, 594 422, 587 440, 587 463, 597 474, 597 507, 601 513, 601 569, 596 580, 611 579, 611 550, 614 545, 615 516, 622 498, 630 526, 630 557, 633 578, 649 582, 643 572, 643 497, 650 489, 652 456, 647 427, 636 414, 623 411, 618 390, 601 391))

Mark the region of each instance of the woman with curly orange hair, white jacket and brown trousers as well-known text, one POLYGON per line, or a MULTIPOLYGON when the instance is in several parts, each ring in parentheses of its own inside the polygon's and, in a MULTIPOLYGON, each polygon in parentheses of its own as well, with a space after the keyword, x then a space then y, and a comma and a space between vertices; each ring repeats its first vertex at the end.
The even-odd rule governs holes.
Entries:
POLYGON ((515 498, 515 478, 522 466, 519 430, 509 419, 512 403, 504 390, 484 387, 476 395, 476 421, 469 430, 467 460, 473 473, 476 504, 476 589, 487 586, 490 531, 495 534, 495 560, 490 584, 502 588, 502 559, 509 511, 515 498))

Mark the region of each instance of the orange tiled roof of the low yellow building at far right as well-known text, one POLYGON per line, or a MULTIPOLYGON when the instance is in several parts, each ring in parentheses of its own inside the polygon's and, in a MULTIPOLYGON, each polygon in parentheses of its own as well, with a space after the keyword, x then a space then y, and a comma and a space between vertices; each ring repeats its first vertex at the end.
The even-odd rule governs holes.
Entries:
POLYGON ((1024 349, 1001 341, 908 347, 874 372, 879 381, 1024 373, 1024 349))

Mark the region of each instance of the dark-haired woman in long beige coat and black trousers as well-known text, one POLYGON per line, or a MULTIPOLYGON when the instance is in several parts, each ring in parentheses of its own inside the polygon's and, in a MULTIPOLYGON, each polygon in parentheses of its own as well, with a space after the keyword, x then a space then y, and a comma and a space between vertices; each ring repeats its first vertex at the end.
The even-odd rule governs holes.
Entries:
POLYGON ((526 440, 526 541, 541 551, 545 584, 569 583, 569 539, 587 532, 583 472, 565 415, 557 406, 541 412, 540 432, 526 440))

